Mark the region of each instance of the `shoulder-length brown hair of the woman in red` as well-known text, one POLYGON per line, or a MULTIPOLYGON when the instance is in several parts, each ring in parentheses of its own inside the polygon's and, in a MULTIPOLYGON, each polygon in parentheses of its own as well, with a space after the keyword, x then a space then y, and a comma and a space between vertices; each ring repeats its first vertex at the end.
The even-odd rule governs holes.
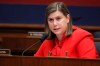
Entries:
MULTIPOLYGON (((54 2, 54 3, 51 3, 50 5, 48 5, 48 7, 46 8, 46 23, 45 23, 45 32, 48 33, 48 35, 49 35, 48 39, 55 37, 55 34, 53 32, 51 32, 51 30, 49 29, 48 22, 47 22, 48 16, 55 11, 60 11, 65 16, 68 14, 70 15, 69 10, 67 9, 67 7, 65 6, 65 4, 63 2, 54 2)), ((72 18, 71 18, 71 16, 70 16, 70 20, 68 23, 68 28, 66 28, 66 30, 67 30, 66 36, 69 36, 72 34, 72 18)))

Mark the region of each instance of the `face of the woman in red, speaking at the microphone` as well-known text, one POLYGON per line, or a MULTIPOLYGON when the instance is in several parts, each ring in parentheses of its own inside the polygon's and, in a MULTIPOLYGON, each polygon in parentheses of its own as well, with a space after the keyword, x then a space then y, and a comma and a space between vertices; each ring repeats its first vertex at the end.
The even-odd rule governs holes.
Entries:
POLYGON ((48 25, 50 30, 56 35, 63 35, 69 22, 69 14, 63 15, 60 11, 55 11, 48 16, 48 25))

